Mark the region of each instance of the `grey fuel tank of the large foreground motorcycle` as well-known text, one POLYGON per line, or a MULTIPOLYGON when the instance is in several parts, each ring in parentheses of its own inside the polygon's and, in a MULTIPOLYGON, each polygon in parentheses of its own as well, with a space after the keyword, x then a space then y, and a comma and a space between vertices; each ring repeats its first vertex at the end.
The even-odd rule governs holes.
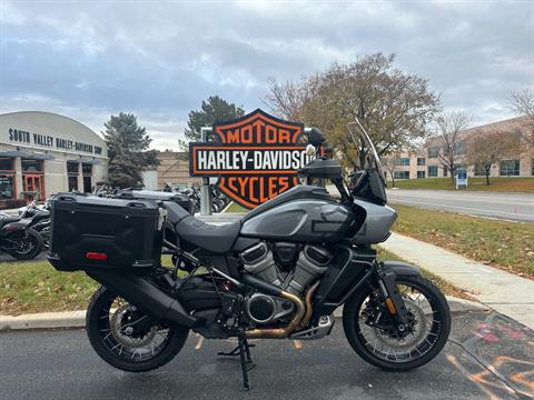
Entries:
POLYGON ((342 239, 353 221, 353 211, 328 200, 294 200, 275 206, 248 220, 241 236, 299 242, 333 242, 342 239))

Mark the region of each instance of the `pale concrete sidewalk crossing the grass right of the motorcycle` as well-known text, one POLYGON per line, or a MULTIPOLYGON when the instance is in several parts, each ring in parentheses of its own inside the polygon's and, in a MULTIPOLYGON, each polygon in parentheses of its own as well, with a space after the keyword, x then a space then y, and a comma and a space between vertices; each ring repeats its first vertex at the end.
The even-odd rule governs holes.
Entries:
POLYGON ((380 247, 469 290, 482 303, 534 329, 534 281, 398 233, 380 247))

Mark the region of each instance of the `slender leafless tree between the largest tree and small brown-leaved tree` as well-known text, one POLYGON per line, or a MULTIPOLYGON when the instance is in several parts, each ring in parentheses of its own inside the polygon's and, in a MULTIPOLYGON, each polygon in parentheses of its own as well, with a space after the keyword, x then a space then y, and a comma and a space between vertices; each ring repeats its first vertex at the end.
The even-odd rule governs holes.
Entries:
POLYGON ((458 156, 464 144, 461 132, 467 128, 471 119, 471 114, 465 111, 445 112, 436 119, 435 140, 439 143, 437 158, 443 168, 451 171, 453 182, 458 156))

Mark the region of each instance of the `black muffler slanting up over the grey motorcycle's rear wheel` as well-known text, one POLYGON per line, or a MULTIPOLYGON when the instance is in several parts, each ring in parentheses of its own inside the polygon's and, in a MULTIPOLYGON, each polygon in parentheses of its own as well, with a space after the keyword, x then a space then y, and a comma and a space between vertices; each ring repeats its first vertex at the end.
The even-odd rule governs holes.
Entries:
POLYGON ((150 317, 186 328, 204 323, 202 320, 188 314, 178 300, 172 299, 146 279, 109 272, 91 271, 86 273, 150 317))

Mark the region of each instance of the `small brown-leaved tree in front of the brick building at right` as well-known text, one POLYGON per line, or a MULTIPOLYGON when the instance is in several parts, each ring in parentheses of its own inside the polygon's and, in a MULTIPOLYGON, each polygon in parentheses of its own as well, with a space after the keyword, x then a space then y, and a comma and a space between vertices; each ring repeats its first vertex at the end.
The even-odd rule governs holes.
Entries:
POLYGON ((516 154, 521 149, 518 131, 476 132, 467 141, 467 162, 484 169, 486 184, 490 184, 490 171, 494 163, 516 154))

